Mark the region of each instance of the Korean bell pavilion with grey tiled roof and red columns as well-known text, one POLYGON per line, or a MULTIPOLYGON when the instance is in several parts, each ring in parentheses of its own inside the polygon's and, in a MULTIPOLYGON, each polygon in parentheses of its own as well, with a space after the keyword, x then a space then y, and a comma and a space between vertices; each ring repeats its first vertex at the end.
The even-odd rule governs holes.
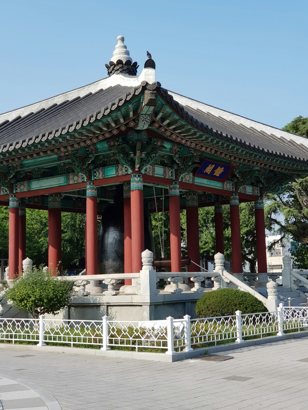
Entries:
POLYGON ((224 253, 221 205, 229 204, 233 274, 240 276, 239 203, 248 201, 255 203, 257 268, 266 273, 263 196, 281 193, 287 182, 307 175, 308 140, 168 91, 168 84, 156 81, 149 53, 138 75, 123 36, 106 68, 102 80, 0 115, 9 279, 26 256, 26 208, 48 210, 52 268, 61 260, 61 212, 84 213, 86 274, 99 273, 104 250, 98 250, 97 215, 117 201, 122 273, 140 271, 145 213, 157 210, 170 215, 165 256, 172 272, 182 271, 181 209, 191 260, 200 261, 199 207, 215 207, 216 252, 224 253))

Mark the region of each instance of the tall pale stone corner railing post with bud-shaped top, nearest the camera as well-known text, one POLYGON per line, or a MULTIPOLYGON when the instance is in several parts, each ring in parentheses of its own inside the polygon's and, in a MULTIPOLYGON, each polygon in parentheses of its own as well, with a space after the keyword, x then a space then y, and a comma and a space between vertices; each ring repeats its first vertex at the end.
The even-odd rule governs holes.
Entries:
POLYGON ((153 252, 146 249, 141 253, 142 270, 140 271, 140 295, 150 296, 157 295, 159 290, 156 289, 156 271, 153 268, 153 252))

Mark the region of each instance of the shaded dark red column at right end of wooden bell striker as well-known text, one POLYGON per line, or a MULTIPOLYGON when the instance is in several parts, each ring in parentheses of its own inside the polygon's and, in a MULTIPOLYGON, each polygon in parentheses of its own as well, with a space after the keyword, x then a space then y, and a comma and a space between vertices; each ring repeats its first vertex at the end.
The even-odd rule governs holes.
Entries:
MULTIPOLYGON (((187 256, 200 265, 198 194, 195 193, 186 194, 186 231, 187 256)), ((200 272, 200 268, 191 263, 188 272, 200 272)))

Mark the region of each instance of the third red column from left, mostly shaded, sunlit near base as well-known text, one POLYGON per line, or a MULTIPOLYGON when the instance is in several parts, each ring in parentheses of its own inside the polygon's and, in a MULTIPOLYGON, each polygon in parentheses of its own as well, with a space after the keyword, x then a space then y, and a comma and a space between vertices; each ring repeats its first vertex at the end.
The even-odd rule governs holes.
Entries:
POLYGON ((61 195, 48 195, 48 268, 56 275, 61 272, 62 259, 61 195), (59 266, 58 266, 59 264, 59 266))

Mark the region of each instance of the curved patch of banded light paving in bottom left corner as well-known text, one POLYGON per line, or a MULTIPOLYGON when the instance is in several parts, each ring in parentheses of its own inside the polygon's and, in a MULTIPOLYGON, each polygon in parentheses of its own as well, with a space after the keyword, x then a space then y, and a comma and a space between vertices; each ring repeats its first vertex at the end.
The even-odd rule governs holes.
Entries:
POLYGON ((27 381, 0 377, 0 410, 6 409, 61 410, 61 406, 51 394, 27 381))

